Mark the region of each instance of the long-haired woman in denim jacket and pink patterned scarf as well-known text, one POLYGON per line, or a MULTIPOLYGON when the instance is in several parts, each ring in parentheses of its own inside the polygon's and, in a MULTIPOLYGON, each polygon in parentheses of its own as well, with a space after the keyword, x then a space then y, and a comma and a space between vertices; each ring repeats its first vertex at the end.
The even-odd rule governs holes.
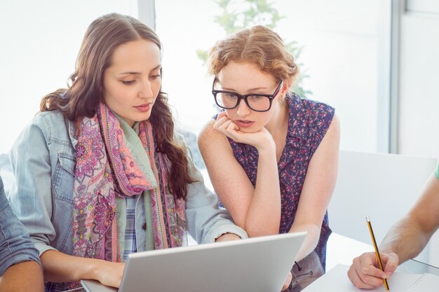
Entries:
POLYGON ((69 88, 41 101, 11 150, 10 200, 46 291, 118 287, 129 253, 246 237, 203 185, 161 91, 161 43, 112 13, 84 36, 69 88))

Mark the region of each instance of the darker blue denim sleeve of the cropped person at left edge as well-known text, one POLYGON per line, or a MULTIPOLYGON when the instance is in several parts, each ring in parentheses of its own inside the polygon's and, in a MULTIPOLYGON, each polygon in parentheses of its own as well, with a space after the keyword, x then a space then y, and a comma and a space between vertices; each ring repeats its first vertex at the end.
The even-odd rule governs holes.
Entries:
POLYGON ((40 263, 38 251, 25 226, 13 213, 0 178, 0 276, 11 265, 28 260, 40 263))

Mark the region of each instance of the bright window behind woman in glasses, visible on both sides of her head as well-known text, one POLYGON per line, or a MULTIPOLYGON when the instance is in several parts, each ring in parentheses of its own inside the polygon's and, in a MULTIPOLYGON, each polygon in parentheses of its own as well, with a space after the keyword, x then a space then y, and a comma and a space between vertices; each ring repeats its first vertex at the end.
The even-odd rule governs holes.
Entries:
MULTIPOLYGON (((232 1, 236 10, 245 1, 232 1)), ((341 148, 389 149, 390 1, 278 0, 285 16, 274 28, 302 47, 306 95, 334 106, 342 122, 341 148)), ((165 48, 163 88, 182 129, 197 133, 214 113, 212 78, 196 50, 226 36, 214 22, 216 1, 156 1, 156 31, 165 48)))

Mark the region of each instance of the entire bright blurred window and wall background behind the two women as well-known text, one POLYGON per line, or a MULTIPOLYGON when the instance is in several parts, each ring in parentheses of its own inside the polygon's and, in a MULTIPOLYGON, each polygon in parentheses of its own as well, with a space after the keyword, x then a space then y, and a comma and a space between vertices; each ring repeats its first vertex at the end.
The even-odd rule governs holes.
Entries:
MULTIPOLYGON (((439 157, 439 2, 435 0, 2 0, 0 165, 39 110, 65 88, 86 28, 133 15, 163 42, 163 91, 196 165, 196 134, 215 113, 206 51, 241 27, 282 36, 302 76, 292 90, 334 106, 344 150, 439 157)), ((205 173, 205 171, 203 170, 205 173)))

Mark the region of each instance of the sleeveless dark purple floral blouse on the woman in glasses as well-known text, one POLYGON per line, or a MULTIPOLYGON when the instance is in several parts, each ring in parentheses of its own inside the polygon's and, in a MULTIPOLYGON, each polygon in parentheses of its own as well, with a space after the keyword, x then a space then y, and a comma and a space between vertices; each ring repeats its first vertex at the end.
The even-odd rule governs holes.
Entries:
MULTIPOLYGON (((309 162, 325 137, 335 112, 331 106, 301 99, 294 93, 288 94, 285 102, 289 109, 288 134, 285 148, 278 162, 282 204, 280 233, 288 232, 292 226, 309 162)), ((248 144, 237 143, 232 139, 229 139, 229 143, 236 160, 255 186, 258 159, 256 148, 248 144)), ((325 267, 326 242, 330 234, 326 212, 320 239, 316 246, 316 253, 323 267, 325 267)))

